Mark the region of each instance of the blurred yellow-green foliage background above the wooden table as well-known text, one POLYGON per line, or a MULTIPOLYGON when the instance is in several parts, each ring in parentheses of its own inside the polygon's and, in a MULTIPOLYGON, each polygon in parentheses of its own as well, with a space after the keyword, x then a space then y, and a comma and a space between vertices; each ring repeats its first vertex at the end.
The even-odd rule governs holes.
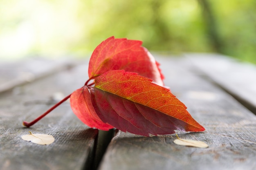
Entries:
POLYGON ((256 63, 255 0, 0 0, 0 58, 86 56, 106 38, 256 63))

